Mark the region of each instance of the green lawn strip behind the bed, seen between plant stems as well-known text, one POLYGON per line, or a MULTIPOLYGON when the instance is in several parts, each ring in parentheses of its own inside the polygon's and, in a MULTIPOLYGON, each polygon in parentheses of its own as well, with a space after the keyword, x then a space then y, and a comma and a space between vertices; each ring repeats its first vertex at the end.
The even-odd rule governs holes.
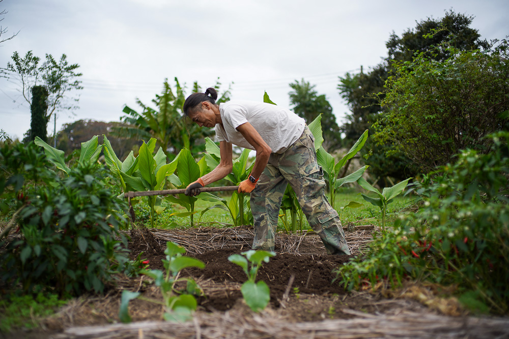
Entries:
MULTIPOLYGON (((365 192, 362 192, 365 194, 365 192)), ((369 196, 375 197, 375 193, 367 194, 369 196)), ((227 198, 229 195, 224 194, 227 198)), ((227 198, 228 199, 228 198, 227 198)), ((413 205, 415 203, 414 197, 404 197, 400 195, 394 198, 393 202, 388 206, 387 210, 387 222, 390 225, 391 221, 394 220, 400 213, 403 213, 406 208, 413 205)), ((216 203, 204 201, 198 199, 195 203, 194 210, 198 211, 194 214, 194 222, 195 225, 207 225, 207 226, 233 226, 232 218, 230 213, 220 209, 214 208, 208 210, 203 217, 200 219, 200 212, 207 207, 213 206, 216 203)), ((170 214, 175 212, 186 212, 187 210, 173 203, 168 202, 163 199, 161 203, 162 207, 165 207, 165 210, 158 214, 155 218, 155 227, 156 228, 175 228, 175 227, 189 227, 190 226, 190 218, 189 217, 176 217, 171 216, 170 214)), ((381 222, 379 218, 381 217, 380 209, 367 203, 362 199, 360 195, 360 191, 350 188, 342 188, 336 194, 335 206, 338 214, 340 214, 340 219, 343 225, 349 222, 357 222, 357 223, 365 223, 365 224, 373 224, 376 226, 380 226, 381 222), (358 203, 363 204, 358 208, 342 208, 346 206, 350 201, 356 201, 358 203)), ((135 205, 134 210, 136 212, 136 218, 138 223, 144 224, 148 226, 150 224, 149 219, 149 211, 150 208, 147 204, 147 199, 142 199, 138 204, 135 205)), ((290 213, 288 213, 288 220, 291 220, 290 213)), ((281 218, 278 222, 278 229, 284 230, 284 223, 281 221, 281 218)), ((303 222, 303 229, 309 229, 309 225, 307 221, 303 222)))

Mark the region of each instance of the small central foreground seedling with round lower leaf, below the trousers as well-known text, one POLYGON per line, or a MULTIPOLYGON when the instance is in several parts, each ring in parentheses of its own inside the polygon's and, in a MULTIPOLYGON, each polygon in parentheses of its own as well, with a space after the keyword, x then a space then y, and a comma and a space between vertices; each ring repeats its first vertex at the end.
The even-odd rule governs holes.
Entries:
POLYGON ((242 284, 240 291, 246 301, 246 304, 254 312, 265 309, 270 301, 270 290, 263 281, 255 283, 258 269, 262 262, 269 262, 269 258, 275 256, 274 252, 250 250, 242 252, 242 255, 232 254, 228 260, 242 267, 247 275, 247 281, 242 284))

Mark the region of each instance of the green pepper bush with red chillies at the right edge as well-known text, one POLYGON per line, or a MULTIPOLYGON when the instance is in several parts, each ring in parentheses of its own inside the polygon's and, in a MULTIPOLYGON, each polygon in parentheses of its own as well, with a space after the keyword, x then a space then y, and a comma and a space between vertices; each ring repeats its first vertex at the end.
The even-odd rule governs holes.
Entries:
MULTIPOLYGON (((338 269, 348 288, 405 277, 457 285, 468 305, 509 310, 509 132, 490 138, 491 152, 464 150, 416 187, 418 211, 402 215, 370 251, 338 269)), ((415 188, 414 188, 415 189, 415 188)))

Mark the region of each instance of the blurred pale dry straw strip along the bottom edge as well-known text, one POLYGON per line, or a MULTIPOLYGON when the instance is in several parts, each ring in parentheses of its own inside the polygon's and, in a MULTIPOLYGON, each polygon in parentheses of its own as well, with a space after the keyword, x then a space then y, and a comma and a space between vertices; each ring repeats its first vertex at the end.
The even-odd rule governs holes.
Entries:
MULTIPOLYGON (((344 310, 345 312, 346 310, 344 310)), ((509 320, 501 318, 449 318, 433 314, 394 316, 347 311, 354 319, 289 323, 272 312, 252 316, 213 313, 192 322, 139 322, 68 328, 55 338, 506 338, 509 320)))

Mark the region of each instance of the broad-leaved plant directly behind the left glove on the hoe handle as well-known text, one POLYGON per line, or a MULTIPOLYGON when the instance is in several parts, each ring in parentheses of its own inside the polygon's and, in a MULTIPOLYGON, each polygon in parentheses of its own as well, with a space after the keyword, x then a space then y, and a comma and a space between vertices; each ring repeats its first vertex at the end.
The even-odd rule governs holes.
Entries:
MULTIPOLYGON (((168 177, 168 180, 178 189, 185 189, 191 182, 194 182, 202 175, 205 175, 207 170, 208 168, 205 164, 205 158, 202 158, 198 163, 196 163, 189 149, 184 148, 180 151, 178 156, 178 175, 172 174, 168 177)), ((205 195, 205 193, 202 193, 201 195, 205 195)), ((175 215, 176 217, 181 218, 190 217, 191 227, 194 226, 194 213, 196 213, 196 211, 194 211, 194 203, 197 200, 196 197, 179 194, 179 198, 169 195, 164 197, 164 199, 185 207, 187 212, 176 212, 170 215, 175 215)))

